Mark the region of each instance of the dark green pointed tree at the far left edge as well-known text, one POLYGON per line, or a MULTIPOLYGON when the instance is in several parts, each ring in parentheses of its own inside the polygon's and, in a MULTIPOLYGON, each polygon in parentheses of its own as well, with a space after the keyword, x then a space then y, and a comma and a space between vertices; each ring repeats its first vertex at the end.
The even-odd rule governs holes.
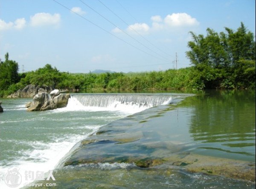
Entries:
POLYGON ((6 53, 5 61, 0 62, 0 90, 6 90, 19 81, 18 69, 18 63, 9 60, 9 54, 6 53))

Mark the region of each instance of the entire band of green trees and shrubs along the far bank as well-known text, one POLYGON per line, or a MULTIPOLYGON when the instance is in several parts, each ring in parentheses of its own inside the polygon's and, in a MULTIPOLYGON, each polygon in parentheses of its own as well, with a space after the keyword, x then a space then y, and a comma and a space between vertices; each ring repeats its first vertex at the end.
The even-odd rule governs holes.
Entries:
POLYGON ((192 66, 179 70, 141 73, 67 73, 47 64, 44 68, 18 73, 18 64, 0 62, 0 96, 6 96, 26 85, 50 86, 62 90, 131 91, 207 88, 255 88, 255 41, 244 24, 233 31, 196 35, 188 42, 186 52, 192 66))

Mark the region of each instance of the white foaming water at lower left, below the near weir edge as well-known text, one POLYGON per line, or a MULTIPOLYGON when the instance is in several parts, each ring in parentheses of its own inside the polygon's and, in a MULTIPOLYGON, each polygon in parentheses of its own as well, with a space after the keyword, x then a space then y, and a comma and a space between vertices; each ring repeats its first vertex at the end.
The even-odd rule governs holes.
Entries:
POLYGON ((12 166, 0 166, 0 189, 9 188, 4 179, 7 172, 15 167, 22 176, 21 184, 17 188, 22 188, 25 183, 30 183, 35 180, 35 178, 33 180, 25 180, 26 171, 33 172, 33 175, 35 176, 37 171, 46 173, 49 170, 53 170, 61 158, 63 158, 75 144, 86 138, 88 135, 95 133, 99 127, 100 126, 88 126, 88 128, 93 130, 92 132, 85 135, 69 135, 64 138, 58 138, 50 143, 41 141, 30 142, 29 145, 34 147, 34 150, 22 151, 23 158, 12 161, 12 166))

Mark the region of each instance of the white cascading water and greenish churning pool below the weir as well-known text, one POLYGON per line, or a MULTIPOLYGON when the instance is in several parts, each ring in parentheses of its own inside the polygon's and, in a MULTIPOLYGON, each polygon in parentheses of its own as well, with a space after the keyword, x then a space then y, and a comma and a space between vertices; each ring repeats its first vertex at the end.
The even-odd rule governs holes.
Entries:
MULTIPOLYGON (((5 109, 6 116, 0 120, 1 131, 8 130, 7 133, 10 133, 6 136, 1 135, 0 143, 5 146, 1 152, 12 154, 10 155, 12 159, 9 161, 23 176, 25 171, 47 172, 53 169, 76 143, 96 132, 99 127, 150 107, 169 104, 172 102, 172 96, 73 94, 67 107, 36 114, 26 112, 25 104, 28 101, 28 99, 8 101, 10 104, 5 109), (16 134, 12 132, 16 127, 24 129, 16 134), (29 138, 27 133, 30 133, 29 138)), ((0 174, 5 175, 9 169, 13 169, 12 166, 9 166, 6 159, 0 155, 0 174)), ((25 180, 23 179, 22 182, 24 183, 25 180)), ((5 187, 3 178, 0 178, 0 188, 5 187)))

